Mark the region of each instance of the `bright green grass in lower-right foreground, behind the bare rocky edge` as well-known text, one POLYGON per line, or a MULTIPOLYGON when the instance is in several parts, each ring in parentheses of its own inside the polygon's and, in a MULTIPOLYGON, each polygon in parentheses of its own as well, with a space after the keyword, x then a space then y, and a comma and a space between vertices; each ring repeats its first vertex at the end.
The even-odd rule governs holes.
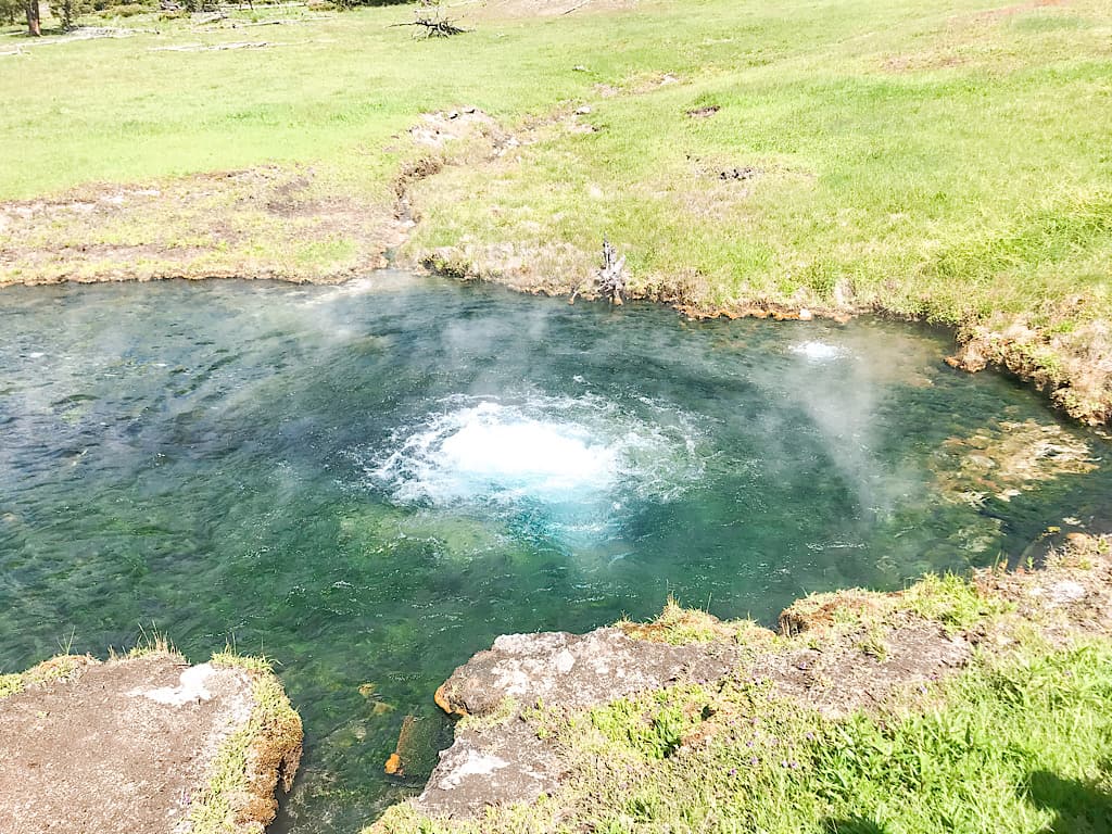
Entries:
POLYGON ((543 733, 574 762, 550 800, 475 824, 399 807, 375 831, 1109 831, 1106 641, 979 656, 917 702, 833 721, 734 682, 550 714, 543 733))

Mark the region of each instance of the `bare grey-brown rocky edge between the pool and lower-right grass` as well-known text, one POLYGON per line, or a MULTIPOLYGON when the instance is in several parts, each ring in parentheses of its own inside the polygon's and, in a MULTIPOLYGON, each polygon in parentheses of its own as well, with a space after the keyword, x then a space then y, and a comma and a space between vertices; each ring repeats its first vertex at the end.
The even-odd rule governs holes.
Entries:
MULTIPOLYGON (((564 818, 565 802, 597 804, 594 794, 568 797, 576 796, 583 768, 608 765, 585 759, 559 733, 572 726, 568 716, 619 699, 634 705, 628 732, 649 733, 637 716, 653 693, 758 687, 753 712, 738 713, 737 702, 722 699, 676 716, 686 728, 669 744, 682 755, 719 737, 728 743, 732 727, 757 724, 775 708, 831 721, 931 708, 929 686, 971 666, 979 653, 1005 656, 1033 632, 1051 647, 1112 636, 1112 539, 1072 534, 1039 570, 985 569, 972 582, 929 577, 892 594, 811 596, 781 615, 780 634, 669 602, 649 624, 619 623, 583 636, 503 636, 437 692, 444 709, 464 716, 455 744, 424 793, 395 806, 368 834, 456 831, 453 821, 459 831, 486 831, 487 822, 489 830, 508 831, 512 825, 493 824, 492 806, 516 805, 527 816, 528 803, 549 796, 544 813, 564 818), (638 693, 645 693, 639 701, 638 693)), ((517 817, 498 817, 510 818, 517 817)))

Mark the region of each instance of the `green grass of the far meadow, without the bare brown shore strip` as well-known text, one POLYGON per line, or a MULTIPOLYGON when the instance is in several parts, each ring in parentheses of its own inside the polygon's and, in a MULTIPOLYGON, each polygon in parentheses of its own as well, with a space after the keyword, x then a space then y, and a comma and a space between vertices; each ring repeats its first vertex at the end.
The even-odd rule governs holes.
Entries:
POLYGON ((554 131, 519 161, 429 183, 411 248, 471 235, 593 254, 608 232, 641 284, 686 281, 707 304, 822 302, 841 286, 956 322, 1080 292, 1079 315, 1106 316, 1112 13, 1096 0, 983 12, 651 1, 428 42, 387 28, 408 8, 256 30, 160 21, 160 34, 4 59, 0 131, 19 162, 0 196, 261 162, 385 195, 405 156, 395 137, 423 111, 470 103, 514 126, 590 102, 598 132, 554 131), (245 39, 280 46, 150 51, 245 39), (659 87, 663 73, 679 81, 659 87), (708 103, 721 110, 686 116, 708 103), (737 166, 763 173, 717 178, 737 166))

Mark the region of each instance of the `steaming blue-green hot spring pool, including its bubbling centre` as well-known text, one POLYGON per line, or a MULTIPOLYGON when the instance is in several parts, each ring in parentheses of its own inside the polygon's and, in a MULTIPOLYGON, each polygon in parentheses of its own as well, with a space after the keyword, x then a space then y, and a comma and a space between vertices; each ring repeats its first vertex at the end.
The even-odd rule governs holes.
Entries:
POLYGON ((16 288, 0 321, 0 669, 152 625, 193 659, 274 657, 308 734, 281 831, 356 831, 411 793, 383 773, 404 717, 445 743, 431 693, 498 634, 669 592, 771 623, 1110 515, 1108 468, 956 495, 977 433, 1108 448, 906 326, 395 272, 16 288))

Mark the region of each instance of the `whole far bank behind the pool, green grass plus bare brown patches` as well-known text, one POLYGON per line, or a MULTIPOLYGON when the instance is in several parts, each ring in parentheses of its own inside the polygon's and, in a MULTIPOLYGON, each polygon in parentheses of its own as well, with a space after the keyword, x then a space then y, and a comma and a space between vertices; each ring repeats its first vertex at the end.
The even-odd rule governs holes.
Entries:
POLYGON ((1112 414, 1106 3, 476 8, 474 31, 427 42, 389 28, 408 7, 4 38, 19 53, 0 56, 0 198, 83 190, 38 220, 6 209, 0 282, 339 279, 400 241, 399 173, 428 159, 435 176, 401 181, 415 261, 569 291, 608 235, 637 294, 949 324, 963 366, 1005 365, 1091 423, 1112 414), (269 19, 285 24, 254 26, 269 19), (406 132, 463 106, 500 140, 461 152, 406 132), (260 166, 278 167, 261 188, 180 180, 260 166))

